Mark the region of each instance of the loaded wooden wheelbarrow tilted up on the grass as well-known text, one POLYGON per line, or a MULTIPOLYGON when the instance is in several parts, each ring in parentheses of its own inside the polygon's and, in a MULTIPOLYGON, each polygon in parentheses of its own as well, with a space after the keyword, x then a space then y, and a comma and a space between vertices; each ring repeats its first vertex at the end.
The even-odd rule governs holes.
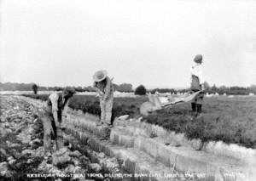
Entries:
POLYGON ((180 105, 183 103, 188 103, 194 100, 198 94, 203 93, 203 91, 198 91, 192 94, 189 94, 185 97, 177 97, 175 99, 172 99, 171 101, 168 101, 166 103, 162 103, 160 101, 160 97, 157 94, 148 94, 148 100, 147 102, 144 102, 140 106, 140 113, 142 116, 148 116, 149 113, 154 112, 155 110, 163 110, 166 108, 170 108, 174 105, 180 105))

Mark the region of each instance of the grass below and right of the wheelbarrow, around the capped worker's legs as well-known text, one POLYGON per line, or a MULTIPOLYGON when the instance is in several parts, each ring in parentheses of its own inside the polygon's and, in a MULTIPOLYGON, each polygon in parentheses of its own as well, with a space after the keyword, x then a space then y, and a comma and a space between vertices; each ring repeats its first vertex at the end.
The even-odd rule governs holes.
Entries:
POLYGON ((190 106, 177 105, 169 110, 158 110, 147 121, 189 139, 224 141, 256 148, 256 98, 207 98, 199 117, 190 115, 190 106))

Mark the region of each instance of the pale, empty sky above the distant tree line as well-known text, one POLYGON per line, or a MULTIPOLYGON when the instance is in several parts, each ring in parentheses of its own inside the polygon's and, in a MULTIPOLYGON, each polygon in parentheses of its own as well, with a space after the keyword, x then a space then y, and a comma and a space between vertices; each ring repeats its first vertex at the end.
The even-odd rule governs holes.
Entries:
POLYGON ((0 0, 0 82, 146 88, 256 84, 255 0, 0 0))

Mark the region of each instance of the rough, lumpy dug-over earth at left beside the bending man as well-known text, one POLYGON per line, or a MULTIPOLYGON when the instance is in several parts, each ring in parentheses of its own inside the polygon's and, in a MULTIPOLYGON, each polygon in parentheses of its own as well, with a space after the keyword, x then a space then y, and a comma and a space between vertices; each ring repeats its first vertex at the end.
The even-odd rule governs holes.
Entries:
POLYGON ((32 104, 16 96, 0 100, 1 181, 85 180, 81 173, 88 173, 90 161, 78 150, 67 144, 54 153, 44 151, 43 125, 32 104))

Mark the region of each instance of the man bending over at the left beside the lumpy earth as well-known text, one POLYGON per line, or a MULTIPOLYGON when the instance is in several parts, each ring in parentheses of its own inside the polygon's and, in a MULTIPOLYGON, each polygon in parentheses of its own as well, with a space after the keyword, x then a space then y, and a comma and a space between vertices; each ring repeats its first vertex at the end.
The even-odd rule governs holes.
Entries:
MULTIPOLYGON (((61 124, 62 113, 65 105, 68 105, 68 100, 75 93, 74 88, 64 88, 62 93, 51 93, 47 100, 47 113, 49 121, 51 122, 52 130, 54 131, 55 147, 59 150, 63 147, 63 136, 62 130, 63 125, 61 124)), ((44 145, 50 142, 50 135, 44 134, 44 145)), ((49 145, 44 146, 49 147, 49 145)))

